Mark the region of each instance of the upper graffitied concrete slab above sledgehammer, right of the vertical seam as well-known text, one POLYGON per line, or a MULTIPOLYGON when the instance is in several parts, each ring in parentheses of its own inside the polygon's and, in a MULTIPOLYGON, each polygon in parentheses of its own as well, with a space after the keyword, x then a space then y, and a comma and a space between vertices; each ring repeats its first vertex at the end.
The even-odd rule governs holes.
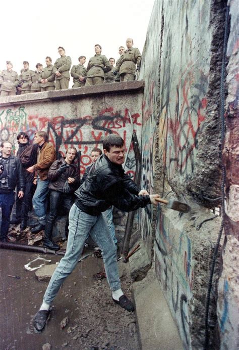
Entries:
POLYGON ((163 3, 158 125, 162 173, 177 193, 193 195, 209 207, 207 198, 219 196, 221 7, 214 1, 163 3))

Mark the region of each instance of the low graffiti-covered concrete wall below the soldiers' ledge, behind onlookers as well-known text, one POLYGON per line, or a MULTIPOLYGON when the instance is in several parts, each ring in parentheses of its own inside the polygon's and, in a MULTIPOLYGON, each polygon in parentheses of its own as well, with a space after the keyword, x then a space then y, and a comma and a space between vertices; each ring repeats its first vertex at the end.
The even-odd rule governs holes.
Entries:
MULTIPOLYGON (((55 147, 58 157, 65 155, 71 146, 77 148, 81 157, 80 172, 83 174, 86 166, 90 164, 91 149, 101 147, 107 134, 120 135, 126 147, 129 147, 132 135, 127 108, 130 109, 134 130, 141 141, 142 103, 137 105, 133 100, 138 102, 138 99, 127 95, 123 100, 113 96, 107 102, 102 98, 98 98, 98 101, 87 98, 84 102, 33 102, 20 107, 1 108, 0 104, 1 140, 13 142, 15 151, 18 148, 17 134, 20 131, 27 132, 30 140, 33 140, 37 130, 46 130, 49 142, 55 147)), ((132 145, 130 147, 126 170, 134 177, 135 157, 132 145)))

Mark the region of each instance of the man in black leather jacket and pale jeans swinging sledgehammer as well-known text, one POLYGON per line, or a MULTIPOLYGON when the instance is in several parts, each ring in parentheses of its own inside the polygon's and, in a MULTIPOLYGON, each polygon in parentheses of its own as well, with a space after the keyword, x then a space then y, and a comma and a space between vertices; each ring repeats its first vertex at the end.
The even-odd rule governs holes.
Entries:
POLYGON ((59 288, 76 267, 85 240, 90 235, 102 251, 104 268, 112 299, 127 311, 134 311, 134 305, 121 289, 118 275, 116 246, 110 237, 108 227, 101 214, 110 205, 124 211, 143 208, 147 204, 157 204, 156 197, 149 195, 125 173, 122 164, 125 160, 124 140, 115 134, 103 141, 102 154, 91 167, 88 177, 75 192, 76 202, 69 213, 69 237, 67 251, 55 269, 40 310, 33 319, 33 325, 41 331, 49 315, 49 308, 59 288))

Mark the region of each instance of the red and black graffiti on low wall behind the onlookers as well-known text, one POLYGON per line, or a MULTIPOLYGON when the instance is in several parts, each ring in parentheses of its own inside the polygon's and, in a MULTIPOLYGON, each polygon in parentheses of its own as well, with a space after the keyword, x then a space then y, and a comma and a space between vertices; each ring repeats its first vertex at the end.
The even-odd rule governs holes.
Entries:
MULTIPOLYGON (((100 110, 97 115, 85 116, 39 116, 28 113, 25 107, 0 111, 1 140, 11 141, 17 147, 17 134, 21 131, 33 140, 37 130, 45 130, 49 142, 55 147, 57 154, 65 155, 69 147, 76 147, 81 157, 80 170, 84 173, 86 166, 91 163, 90 151, 100 147, 102 140, 108 134, 120 135, 129 145, 130 117, 128 109, 120 111, 108 107, 100 110)), ((133 125, 136 132, 141 128, 139 113, 132 113, 133 125)), ((126 169, 131 177, 135 174, 135 156, 131 145, 126 169)))

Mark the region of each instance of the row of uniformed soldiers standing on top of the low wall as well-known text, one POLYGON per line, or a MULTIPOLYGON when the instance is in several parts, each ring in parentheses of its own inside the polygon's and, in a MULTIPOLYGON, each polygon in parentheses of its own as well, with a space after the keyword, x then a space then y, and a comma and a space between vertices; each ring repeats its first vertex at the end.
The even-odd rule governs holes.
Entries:
POLYGON ((72 87, 84 85, 97 85, 112 83, 115 81, 135 80, 140 69, 141 54, 139 49, 133 48, 133 39, 126 40, 127 50, 123 46, 119 48, 120 58, 116 62, 101 55, 101 46, 95 45, 95 55, 90 58, 87 68, 85 56, 79 57, 79 64, 72 65, 71 57, 66 56, 63 47, 58 47, 60 57, 54 65, 49 56, 46 57, 46 67, 41 63, 36 64, 36 70, 29 69, 29 62, 23 61, 21 74, 13 70, 11 61, 7 61, 7 69, 0 71, 1 96, 20 95, 51 90, 63 90, 69 88, 70 74, 73 77, 72 87))

